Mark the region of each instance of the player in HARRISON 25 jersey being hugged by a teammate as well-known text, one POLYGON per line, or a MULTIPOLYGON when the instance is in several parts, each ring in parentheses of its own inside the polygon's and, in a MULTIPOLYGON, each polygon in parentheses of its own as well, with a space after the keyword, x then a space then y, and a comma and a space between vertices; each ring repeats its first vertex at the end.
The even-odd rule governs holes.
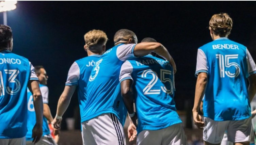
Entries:
MULTIPOLYGON (((142 42, 154 42, 147 38, 142 42)), ((121 93, 134 124, 138 115, 138 145, 186 145, 174 102, 174 72, 167 61, 148 54, 125 61, 120 70, 121 93), (136 113, 133 111, 133 96, 136 113)))

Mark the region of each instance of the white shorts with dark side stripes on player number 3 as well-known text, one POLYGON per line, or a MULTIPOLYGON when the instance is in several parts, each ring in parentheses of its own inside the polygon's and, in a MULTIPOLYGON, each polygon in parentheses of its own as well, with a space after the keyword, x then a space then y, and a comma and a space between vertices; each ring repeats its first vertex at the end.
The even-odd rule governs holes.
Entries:
POLYGON ((126 145, 122 124, 112 113, 82 122, 84 145, 126 145))

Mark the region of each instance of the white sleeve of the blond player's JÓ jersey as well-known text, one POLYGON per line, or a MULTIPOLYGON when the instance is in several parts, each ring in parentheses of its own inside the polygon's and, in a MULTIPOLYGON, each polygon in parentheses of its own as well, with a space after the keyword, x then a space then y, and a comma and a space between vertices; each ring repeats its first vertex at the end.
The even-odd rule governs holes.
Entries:
POLYGON ((80 76, 80 69, 76 62, 69 68, 66 85, 77 85, 80 76))

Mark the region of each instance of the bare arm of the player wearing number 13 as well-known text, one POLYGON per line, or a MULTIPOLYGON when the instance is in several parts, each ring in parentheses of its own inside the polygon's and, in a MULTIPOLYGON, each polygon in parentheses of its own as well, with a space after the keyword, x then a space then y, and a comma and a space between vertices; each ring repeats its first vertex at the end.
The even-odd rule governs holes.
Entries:
POLYGON ((36 143, 40 140, 43 134, 43 97, 39 88, 37 80, 30 80, 28 83, 30 92, 33 94, 34 109, 36 114, 36 124, 32 130, 33 142, 36 143))

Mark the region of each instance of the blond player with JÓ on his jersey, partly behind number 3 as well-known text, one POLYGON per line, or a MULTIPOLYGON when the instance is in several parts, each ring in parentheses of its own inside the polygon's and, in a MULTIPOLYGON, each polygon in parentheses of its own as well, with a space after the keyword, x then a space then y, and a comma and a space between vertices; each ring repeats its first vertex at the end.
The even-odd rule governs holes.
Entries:
MULTIPOLYGON (((87 52, 88 57, 75 61, 68 71, 66 86, 60 96, 57 114, 53 120, 55 128, 60 129, 58 124, 61 122, 61 116, 66 111, 76 87, 78 87, 81 122, 84 122, 84 118, 86 117, 84 112, 87 100, 87 83, 93 66, 95 66, 101 54, 105 52, 107 40, 106 33, 101 30, 91 30, 84 35, 84 50, 87 52)), ((83 140, 85 138, 83 132, 82 138, 83 140)))

